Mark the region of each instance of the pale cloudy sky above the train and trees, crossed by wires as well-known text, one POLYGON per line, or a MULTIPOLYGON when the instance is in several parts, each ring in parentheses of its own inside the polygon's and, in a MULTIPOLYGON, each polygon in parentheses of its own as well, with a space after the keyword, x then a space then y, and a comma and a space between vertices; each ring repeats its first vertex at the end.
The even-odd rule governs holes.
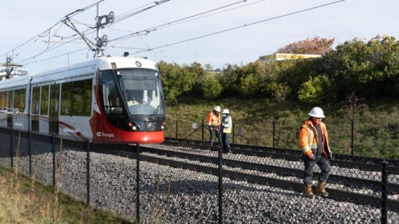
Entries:
MULTIPOLYGON (((161 3, 162 1, 164 0, 158 0, 161 3)), ((92 59, 94 53, 82 39, 68 38, 76 33, 65 24, 57 24, 50 30, 50 35, 46 33, 43 37, 37 37, 23 46, 16 47, 46 31, 65 15, 96 2, 98 0, 2 0, 0 62, 6 60, 7 54, 13 55, 14 63, 22 64, 29 72, 36 73, 92 59), (71 42, 61 45, 66 41, 71 42)), ((195 20, 184 20, 185 22, 179 24, 170 23, 169 26, 147 34, 142 32, 139 36, 133 35, 129 39, 110 41, 104 53, 110 56, 122 56, 124 52, 129 52, 129 57, 147 57, 156 62, 163 60, 180 65, 198 62, 202 65, 210 64, 213 69, 221 69, 226 64, 245 65, 254 62, 259 56, 272 54, 286 44, 315 36, 335 38, 334 47, 355 37, 364 40, 376 35, 399 38, 397 0, 346 0, 249 25, 332 2, 335 1, 170 0, 122 21, 111 23, 112 26, 105 27, 102 34, 113 40, 198 13, 236 4, 201 15, 206 17, 197 16, 193 17, 197 18, 195 20), (248 26, 173 44, 245 24, 248 26)), ((123 13, 136 12, 153 5, 154 2, 143 0, 101 2, 102 14, 114 11, 116 19, 121 18, 123 13)), ((79 31, 94 26, 96 10, 94 6, 71 18, 79 31)), ((95 35, 95 32, 87 34, 86 38, 95 42, 95 35)))

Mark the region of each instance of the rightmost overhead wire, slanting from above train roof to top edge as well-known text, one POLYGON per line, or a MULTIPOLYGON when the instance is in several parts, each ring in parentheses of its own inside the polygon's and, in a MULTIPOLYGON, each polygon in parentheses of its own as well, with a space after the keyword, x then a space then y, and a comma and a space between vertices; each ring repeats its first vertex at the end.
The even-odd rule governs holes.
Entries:
POLYGON ((274 19, 278 19, 278 18, 282 18, 282 17, 286 17, 286 16, 290 16, 290 15, 294 15, 294 14, 298 14, 298 13, 314 10, 314 9, 318 9, 318 8, 321 8, 321 7, 337 4, 337 3, 340 3, 340 2, 344 2, 344 1, 346 1, 346 0, 335 1, 335 2, 331 2, 331 3, 327 3, 327 4, 323 4, 323 5, 319 5, 319 6, 315 6, 315 7, 311 7, 311 8, 307 8, 307 9, 303 9, 303 10, 299 10, 299 11, 295 11, 295 12, 291 12, 291 13, 287 13, 287 14, 283 14, 283 15, 279 15, 279 16, 275 16, 275 17, 271 17, 271 18, 267 18, 267 19, 263 19, 263 20, 260 20, 260 21, 251 22, 251 23, 248 23, 248 24, 246 23, 246 24, 243 24, 243 25, 238 26, 238 27, 233 27, 233 28, 230 28, 230 29, 217 31, 217 32, 206 34, 206 35, 202 35, 202 36, 193 37, 193 38, 190 38, 190 39, 181 40, 181 41, 177 41, 177 42, 173 42, 173 43, 169 43, 169 44, 153 47, 151 49, 147 49, 147 50, 143 50, 143 51, 137 51, 137 52, 132 53, 132 54, 139 54, 139 53, 142 53, 142 52, 149 52, 149 51, 153 51, 154 49, 159 49, 159 48, 163 48, 163 47, 167 47, 167 46, 171 46, 171 45, 176 45, 176 44, 188 42, 188 41, 191 41, 191 40, 201 39, 201 38, 204 38, 204 37, 209 37, 209 36, 212 36, 212 35, 225 33, 225 32, 228 32, 228 31, 239 29, 239 28, 252 26, 252 25, 255 25, 255 24, 258 24, 258 23, 261 23, 261 22, 266 22, 266 21, 270 21, 270 20, 274 20, 274 19))

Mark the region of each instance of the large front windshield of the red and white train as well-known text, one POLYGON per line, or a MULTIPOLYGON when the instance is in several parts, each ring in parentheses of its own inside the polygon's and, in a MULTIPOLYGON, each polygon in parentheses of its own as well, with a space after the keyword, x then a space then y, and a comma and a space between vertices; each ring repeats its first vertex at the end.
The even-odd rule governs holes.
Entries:
POLYGON ((135 68, 116 70, 115 73, 130 115, 164 114, 159 71, 135 68))

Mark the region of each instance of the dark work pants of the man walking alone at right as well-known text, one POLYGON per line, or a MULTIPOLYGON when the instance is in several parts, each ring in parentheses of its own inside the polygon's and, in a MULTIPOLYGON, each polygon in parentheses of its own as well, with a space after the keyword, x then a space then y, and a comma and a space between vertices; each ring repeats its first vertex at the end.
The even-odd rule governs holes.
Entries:
POLYGON ((323 155, 315 157, 315 160, 310 160, 308 157, 303 158, 305 164, 304 183, 311 184, 313 176, 313 168, 317 164, 321 169, 320 181, 327 181, 328 174, 331 170, 330 163, 323 155))

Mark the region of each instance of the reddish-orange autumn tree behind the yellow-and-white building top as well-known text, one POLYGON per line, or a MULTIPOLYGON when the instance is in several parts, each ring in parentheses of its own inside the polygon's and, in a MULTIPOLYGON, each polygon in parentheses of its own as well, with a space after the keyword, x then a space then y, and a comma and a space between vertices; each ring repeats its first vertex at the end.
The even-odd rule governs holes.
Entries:
POLYGON ((279 48, 277 53, 325 55, 325 53, 331 51, 334 41, 335 38, 327 39, 315 36, 287 44, 279 48))

